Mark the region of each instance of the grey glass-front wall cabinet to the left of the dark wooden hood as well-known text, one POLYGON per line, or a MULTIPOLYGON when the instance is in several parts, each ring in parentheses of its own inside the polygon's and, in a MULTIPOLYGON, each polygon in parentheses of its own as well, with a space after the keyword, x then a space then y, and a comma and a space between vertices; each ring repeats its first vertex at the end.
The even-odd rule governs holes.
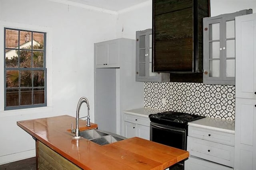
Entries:
POLYGON ((136 81, 170 81, 169 73, 152 72, 152 29, 136 31, 136 81))

